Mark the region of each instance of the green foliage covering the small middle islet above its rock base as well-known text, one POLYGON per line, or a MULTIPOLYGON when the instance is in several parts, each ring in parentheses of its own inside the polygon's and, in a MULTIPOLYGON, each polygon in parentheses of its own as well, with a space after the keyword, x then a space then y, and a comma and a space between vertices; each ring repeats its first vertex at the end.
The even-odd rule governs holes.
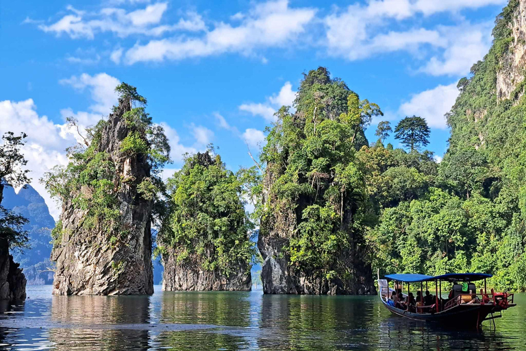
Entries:
POLYGON ((168 213, 156 253, 226 276, 250 271, 253 224, 245 213, 242 187, 214 149, 186 156, 182 169, 168 179, 168 213))

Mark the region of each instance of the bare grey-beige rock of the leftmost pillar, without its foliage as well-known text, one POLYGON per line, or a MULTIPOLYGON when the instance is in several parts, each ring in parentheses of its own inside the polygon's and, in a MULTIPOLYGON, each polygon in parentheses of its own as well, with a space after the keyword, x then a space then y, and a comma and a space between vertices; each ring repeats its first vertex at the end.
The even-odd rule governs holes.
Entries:
MULTIPOLYGON (((149 178, 150 166, 144 155, 126 156, 121 152, 121 142, 131 132, 123 114, 131 106, 120 103, 101 128, 97 145, 97 152, 108 154, 114 165, 118 229, 110 233, 101 226, 86 229, 83 223, 87 210, 72 201, 63 203, 59 222, 62 237, 51 253, 51 260, 57 263, 55 295, 153 293, 150 219, 153 202, 137 191, 138 184, 149 178)), ((80 191, 90 198, 94 189, 82 186, 80 191)))

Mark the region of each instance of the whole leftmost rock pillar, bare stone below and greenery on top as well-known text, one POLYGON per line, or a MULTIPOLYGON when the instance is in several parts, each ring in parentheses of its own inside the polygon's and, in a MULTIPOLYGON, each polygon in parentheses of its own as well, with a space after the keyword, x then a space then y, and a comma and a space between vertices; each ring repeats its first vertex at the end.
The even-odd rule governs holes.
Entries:
POLYGON ((84 144, 68 150, 69 164, 42 180, 62 202, 51 232, 55 295, 153 293, 151 221, 169 147, 136 88, 123 83, 116 91, 108 119, 80 135, 84 144))

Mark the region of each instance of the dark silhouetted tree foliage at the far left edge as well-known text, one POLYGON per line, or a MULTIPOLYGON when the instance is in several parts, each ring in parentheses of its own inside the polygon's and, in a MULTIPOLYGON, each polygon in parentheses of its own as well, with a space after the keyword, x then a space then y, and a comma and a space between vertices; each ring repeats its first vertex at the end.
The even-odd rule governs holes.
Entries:
MULTIPOLYGON (((20 186, 27 184, 29 172, 24 169, 27 164, 21 147, 24 145, 26 135, 14 136, 7 132, 2 136, 0 145, 0 204, 3 199, 5 186, 20 186)), ((0 239, 8 241, 10 247, 25 247, 27 245, 27 232, 22 229, 27 223, 25 217, 0 206, 0 239)))

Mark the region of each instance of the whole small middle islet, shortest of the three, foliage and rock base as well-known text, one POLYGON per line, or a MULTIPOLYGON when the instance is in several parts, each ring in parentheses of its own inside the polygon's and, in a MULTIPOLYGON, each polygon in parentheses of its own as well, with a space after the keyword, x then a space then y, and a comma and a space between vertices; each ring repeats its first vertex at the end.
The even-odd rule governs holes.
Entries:
POLYGON ((209 149, 187 156, 167 191, 155 250, 164 265, 163 290, 250 290, 253 226, 238 176, 209 149))

